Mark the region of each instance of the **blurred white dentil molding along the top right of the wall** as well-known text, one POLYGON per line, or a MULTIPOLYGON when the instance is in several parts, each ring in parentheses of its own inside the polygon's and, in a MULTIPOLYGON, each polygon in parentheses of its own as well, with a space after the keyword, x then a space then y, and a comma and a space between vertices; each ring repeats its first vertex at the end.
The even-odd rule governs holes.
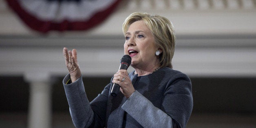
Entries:
POLYGON ((126 0, 128 10, 243 10, 256 9, 255 0, 126 0))

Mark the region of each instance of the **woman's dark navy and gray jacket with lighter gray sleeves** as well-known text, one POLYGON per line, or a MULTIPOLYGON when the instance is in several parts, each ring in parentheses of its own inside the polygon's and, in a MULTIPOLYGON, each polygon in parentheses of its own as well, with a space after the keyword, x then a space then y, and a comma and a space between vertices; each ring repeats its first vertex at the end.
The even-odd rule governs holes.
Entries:
POLYGON ((82 77, 67 84, 63 79, 73 124, 77 128, 185 128, 192 113, 191 81, 170 68, 145 75, 129 74, 135 92, 130 98, 119 91, 110 95, 110 83, 89 103, 82 77))

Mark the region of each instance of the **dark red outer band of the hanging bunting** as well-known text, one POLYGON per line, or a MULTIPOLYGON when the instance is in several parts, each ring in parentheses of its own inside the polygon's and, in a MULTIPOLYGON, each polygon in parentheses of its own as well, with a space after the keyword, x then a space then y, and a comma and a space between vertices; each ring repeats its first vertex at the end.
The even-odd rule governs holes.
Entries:
POLYGON ((29 12, 24 10, 17 0, 6 1, 9 4, 9 7, 11 7, 11 9, 18 14, 18 16, 27 26, 35 31, 47 33, 49 31, 83 31, 91 29, 103 22, 115 10, 121 0, 116 0, 116 2, 114 2, 107 9, 95 13, 89 20, 63 20, 62 22, 58 23, 51 20, 40 20, 36 18, 34 15, 31 15, 29 12))

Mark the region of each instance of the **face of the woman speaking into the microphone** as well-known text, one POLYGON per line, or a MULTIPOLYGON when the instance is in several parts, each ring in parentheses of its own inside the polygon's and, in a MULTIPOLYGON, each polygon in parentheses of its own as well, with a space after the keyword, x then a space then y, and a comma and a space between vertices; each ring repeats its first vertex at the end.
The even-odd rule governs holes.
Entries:
POLYGON ((124 54, 132 57, 132 67, 146 68, 159 63, 155 55, 157 47, 150 29, 139 20, 130 25, 125 34, 124 54))

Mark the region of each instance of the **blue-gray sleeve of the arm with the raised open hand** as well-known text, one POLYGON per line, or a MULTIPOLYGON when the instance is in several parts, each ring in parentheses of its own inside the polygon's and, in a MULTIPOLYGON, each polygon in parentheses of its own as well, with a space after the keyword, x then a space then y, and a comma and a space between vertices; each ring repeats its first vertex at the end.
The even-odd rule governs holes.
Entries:
POLYGON ((70 75, 63 79, 73 124, 76 128, 85 128, 93 122, 94 114, 84 90, 82 76, 71 84, 66 84, 70 75))

